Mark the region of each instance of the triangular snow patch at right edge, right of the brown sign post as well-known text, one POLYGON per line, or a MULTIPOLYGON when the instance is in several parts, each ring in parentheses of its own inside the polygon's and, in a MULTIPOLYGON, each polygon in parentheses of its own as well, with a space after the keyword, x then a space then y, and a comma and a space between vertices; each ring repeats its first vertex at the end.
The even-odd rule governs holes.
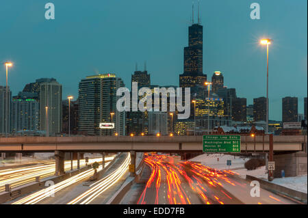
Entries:
POLYGON ((307 175, 285 178, 274 178, 274 184, 307 193, 307 175))

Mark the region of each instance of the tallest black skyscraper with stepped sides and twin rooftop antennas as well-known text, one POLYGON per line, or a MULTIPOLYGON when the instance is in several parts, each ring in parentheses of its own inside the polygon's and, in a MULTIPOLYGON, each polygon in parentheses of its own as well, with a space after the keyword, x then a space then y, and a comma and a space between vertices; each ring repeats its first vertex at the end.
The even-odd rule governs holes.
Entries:
POLYGON ((203 86, 207 75, 203 74, 203 26, 192 21, 188 28, 188 46, 184 48, 184 72, 179 76, 180 87, 203 86))

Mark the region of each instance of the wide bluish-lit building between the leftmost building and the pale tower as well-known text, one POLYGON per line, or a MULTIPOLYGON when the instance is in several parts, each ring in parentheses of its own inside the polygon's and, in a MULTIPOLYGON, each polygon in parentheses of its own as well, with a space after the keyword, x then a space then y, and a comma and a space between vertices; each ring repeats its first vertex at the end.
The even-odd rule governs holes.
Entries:
POLYGON ((19 92, 12 99, 11 132, 38 131, 40 127, 40 103, 38 94, 19 92))

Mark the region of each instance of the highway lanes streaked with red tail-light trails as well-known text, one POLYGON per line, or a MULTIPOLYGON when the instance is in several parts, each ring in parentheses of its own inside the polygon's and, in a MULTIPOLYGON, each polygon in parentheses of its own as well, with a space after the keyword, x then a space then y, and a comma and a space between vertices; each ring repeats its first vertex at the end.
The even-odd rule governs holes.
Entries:
POLYGON ((146 155, 151 176, 138 204, 296 204, 280 195, 260 189, 251 197, 246 180, 231 170, 215 170, 190 161, 174 163, 172 156, 146 155))

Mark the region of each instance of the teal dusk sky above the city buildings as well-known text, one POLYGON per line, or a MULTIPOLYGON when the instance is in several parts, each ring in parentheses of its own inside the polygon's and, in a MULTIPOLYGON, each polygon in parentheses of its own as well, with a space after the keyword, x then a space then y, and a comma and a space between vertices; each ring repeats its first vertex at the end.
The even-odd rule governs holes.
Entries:
MULTIPOLYGON (((247 105, 266 96, 266 46, 259 40, 271 38, 270 120, 281 120, 285 96, 298 97, 298 113, 304 113, 307 0, 201 0, 200 12, 209 79, 221 71, 224 85, 235 87, 247 105), (253 2, 260 5, 259 20, 250 17, 253 2)), ((130 89, 136 62, 143 70, 145 61, 152 84, 179 85, 191 16, 191 0, 2 0, 0 62, 14 63, 13 95, 26 83, 53 77, 63 85, 64 99, 77 99, 79 81, 99 72, 116 73, 130 89), (48 2, 55 5, 55 20, 44 17, 48 2)))

